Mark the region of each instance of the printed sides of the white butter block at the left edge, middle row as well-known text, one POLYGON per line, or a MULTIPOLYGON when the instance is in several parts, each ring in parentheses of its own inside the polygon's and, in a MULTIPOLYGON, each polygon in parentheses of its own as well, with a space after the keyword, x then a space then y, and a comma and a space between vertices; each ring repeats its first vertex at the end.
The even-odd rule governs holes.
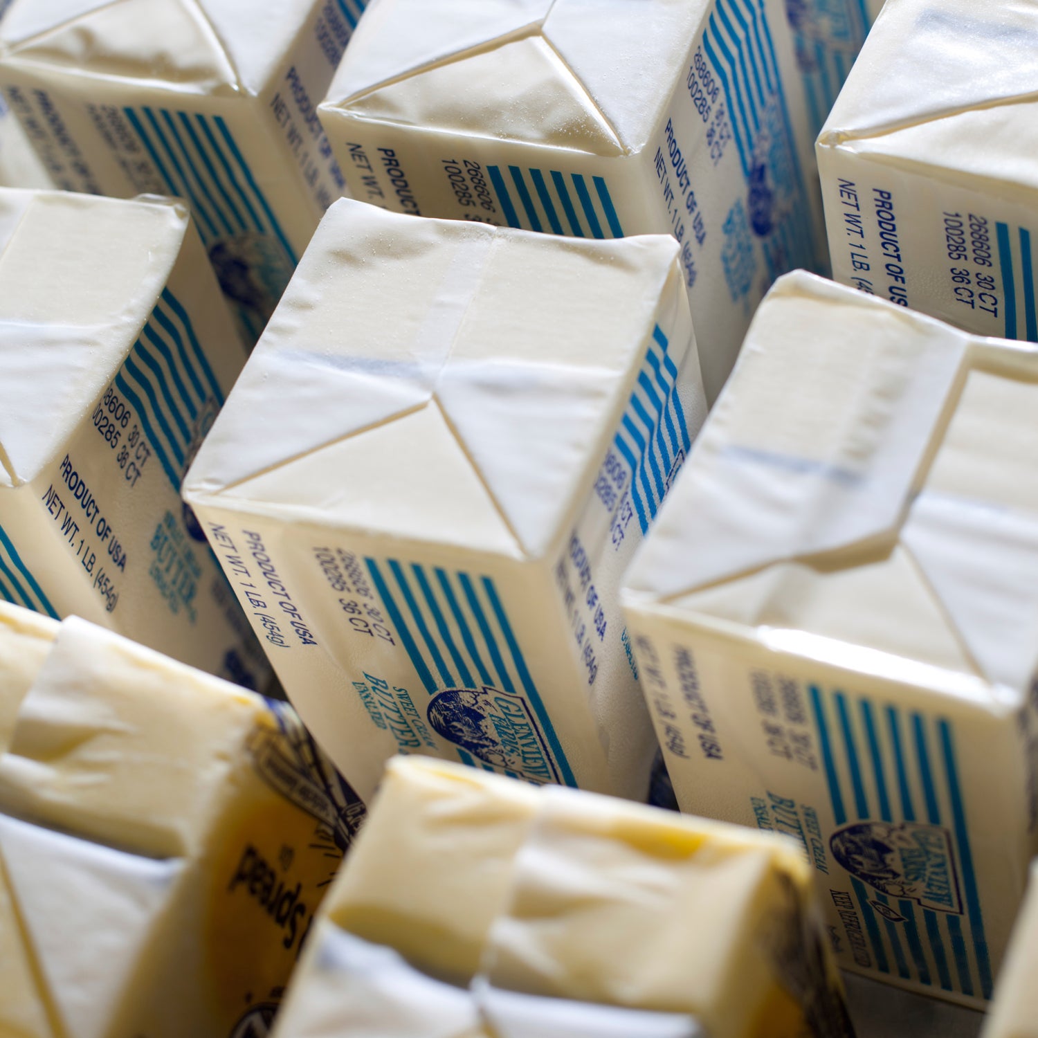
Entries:
MULTIPOLYGON (((88 346, 78 359, 88 363, 88 346)), ((38 474, 0 488, 0 598, 55 619, 75 613, 262 684, 263 656, 180 496, 243 362, 188 226, 155 309, 103 394, 85 414, 70 405, 62 418, 75 432, 38 474)))

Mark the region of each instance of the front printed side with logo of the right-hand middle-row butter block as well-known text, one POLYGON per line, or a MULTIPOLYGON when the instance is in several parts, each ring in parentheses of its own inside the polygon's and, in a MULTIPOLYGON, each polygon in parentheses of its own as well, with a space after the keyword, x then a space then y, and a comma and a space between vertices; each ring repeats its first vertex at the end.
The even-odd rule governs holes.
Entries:
POLYGON ((982 1007, 1034 852, 1032 709, 629 609, 683 811, 803 846, 840 964, 982 1007))

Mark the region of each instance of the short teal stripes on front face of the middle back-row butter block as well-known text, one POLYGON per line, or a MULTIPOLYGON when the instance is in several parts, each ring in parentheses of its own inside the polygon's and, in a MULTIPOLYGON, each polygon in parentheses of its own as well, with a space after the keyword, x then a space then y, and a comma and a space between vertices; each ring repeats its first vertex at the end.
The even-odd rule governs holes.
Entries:
POLYGON ((603 176, 568 176, 557 170, 487 166, 510 227, 575 238, 623 238, 612 196, 603 176))

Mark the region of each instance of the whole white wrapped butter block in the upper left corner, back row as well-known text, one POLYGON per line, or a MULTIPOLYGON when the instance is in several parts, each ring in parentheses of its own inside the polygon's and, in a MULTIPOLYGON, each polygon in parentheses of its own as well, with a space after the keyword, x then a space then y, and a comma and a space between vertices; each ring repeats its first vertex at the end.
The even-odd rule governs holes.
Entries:
POLYGON ((343 193, 316 106, 364 2, 15 0, 0 89, 55 186, 187 201, 254 343, 343 193))

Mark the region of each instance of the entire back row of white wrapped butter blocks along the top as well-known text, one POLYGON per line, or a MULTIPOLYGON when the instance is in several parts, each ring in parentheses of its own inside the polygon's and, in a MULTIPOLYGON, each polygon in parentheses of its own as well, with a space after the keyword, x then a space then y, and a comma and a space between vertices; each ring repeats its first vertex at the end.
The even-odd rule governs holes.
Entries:
POLYGON ((363 6, 17 0, 0 88, 57 186, 191 202, 250 342, 347 190, 555 234, 674 234, 711 400, 770 281, 827 251, 843 283, 1038 338, 1029 4, 363 6))

